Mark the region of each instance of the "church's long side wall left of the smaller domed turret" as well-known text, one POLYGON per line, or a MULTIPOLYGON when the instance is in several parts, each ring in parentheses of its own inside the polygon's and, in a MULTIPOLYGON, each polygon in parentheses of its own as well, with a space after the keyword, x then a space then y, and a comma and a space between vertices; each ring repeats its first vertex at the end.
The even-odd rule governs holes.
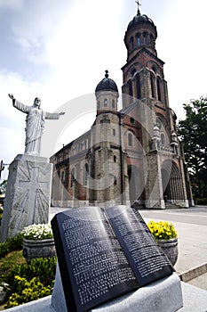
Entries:
POLYGON ((63 146, 52 156, 52 204, 60 207, 77 207, 78 201, 87 201, 84 185, 84 165, 90 148, 91 133, 81 135, 76 141, 63 146))

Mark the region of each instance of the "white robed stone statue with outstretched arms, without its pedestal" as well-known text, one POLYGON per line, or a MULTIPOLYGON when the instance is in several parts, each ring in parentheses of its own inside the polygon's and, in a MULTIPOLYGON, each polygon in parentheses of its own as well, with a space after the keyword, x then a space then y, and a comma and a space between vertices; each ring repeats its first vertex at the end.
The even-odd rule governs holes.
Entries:
POLYGON ((47 112, 40 108, 41 100, 36 97, 32 106, 24 105, 17 101, 12 94, 9 94, 12 99, 13 106, 27 114, 26 118, 26 141, 25 154, 39 156, 41 148, 41 137, 44 131, 45 119, 59 119, 60 115, 65 112, 47 112))

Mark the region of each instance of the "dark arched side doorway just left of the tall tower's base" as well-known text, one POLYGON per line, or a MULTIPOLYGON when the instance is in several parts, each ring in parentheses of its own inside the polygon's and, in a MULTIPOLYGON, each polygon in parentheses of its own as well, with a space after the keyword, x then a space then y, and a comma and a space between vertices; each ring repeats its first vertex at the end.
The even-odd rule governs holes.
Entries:
POLYGON ((139 169, 135 166, 128 166, 128 177, 130 201, 133 204, 135 201, 139 201, 141 196, 139 169))

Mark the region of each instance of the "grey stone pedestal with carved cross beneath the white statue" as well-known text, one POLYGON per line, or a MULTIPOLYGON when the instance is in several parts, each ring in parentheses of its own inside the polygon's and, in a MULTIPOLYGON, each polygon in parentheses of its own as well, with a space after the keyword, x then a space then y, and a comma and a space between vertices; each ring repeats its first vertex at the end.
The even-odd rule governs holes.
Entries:
POLYGON ((52 185, 49 160, 19 154, 9 170, 0 242, 20 233, 25 226, 49 221, 52 185))

